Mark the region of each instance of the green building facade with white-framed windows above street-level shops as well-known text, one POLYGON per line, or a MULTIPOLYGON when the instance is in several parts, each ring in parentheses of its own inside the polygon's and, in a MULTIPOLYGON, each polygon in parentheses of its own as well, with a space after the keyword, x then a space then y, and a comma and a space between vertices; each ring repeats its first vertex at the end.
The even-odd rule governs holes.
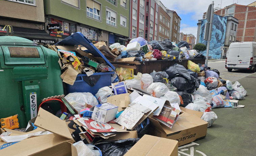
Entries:
POLYGON ((92 43, 127 44, 129 37, 129 0, 44 0, 46 26, 60 24, 62 29, 49 32, 58 41, 81 32, 92 43))

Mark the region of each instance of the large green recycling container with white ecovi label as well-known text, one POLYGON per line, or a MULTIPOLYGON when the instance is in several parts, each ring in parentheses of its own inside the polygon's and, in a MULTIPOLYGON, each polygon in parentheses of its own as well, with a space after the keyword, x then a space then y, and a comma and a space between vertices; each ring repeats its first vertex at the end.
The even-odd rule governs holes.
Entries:
POLYGON ((0 37, 0 119, 18 114, 25 128, 42 99, 64 94, 58 60, 55 51, 28 39, 0 37))

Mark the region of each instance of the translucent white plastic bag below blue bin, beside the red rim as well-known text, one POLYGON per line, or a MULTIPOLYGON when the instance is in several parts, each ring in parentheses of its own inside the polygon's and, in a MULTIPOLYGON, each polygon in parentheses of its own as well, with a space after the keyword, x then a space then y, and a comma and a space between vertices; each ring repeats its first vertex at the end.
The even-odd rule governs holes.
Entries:
POLYGON ((92 93, 69 93, 65 96, 65 99, 75 108, 75 110, 80 114, 80 110, 85 108, 85 103, 95 106, 98 104, 97 99, 92 95, 92 93))

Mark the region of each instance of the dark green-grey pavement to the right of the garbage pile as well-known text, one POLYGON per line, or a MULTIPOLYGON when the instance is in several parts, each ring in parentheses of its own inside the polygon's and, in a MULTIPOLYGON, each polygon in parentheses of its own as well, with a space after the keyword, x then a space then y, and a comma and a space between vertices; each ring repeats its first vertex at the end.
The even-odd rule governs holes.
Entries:
POLYGON ((256 73, 238 80, 248 92, 245 100, 239 100, 240 105, 245 105, 244 108, 212 109, 218 119, 207 129, 206 137, 195 142, 199 144, 194 146, 195 156, 201 155, 196 153, 196 150, 207 156, 255 155, 255 80, 256 73))

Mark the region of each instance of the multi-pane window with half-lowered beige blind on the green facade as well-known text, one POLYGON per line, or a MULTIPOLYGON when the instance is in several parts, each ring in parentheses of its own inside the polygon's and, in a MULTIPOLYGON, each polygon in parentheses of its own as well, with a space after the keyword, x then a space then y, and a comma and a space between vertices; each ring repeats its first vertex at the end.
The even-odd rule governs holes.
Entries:
POLYGON ((87 16, 100 21, 100 4, 87 0, 87 16))

